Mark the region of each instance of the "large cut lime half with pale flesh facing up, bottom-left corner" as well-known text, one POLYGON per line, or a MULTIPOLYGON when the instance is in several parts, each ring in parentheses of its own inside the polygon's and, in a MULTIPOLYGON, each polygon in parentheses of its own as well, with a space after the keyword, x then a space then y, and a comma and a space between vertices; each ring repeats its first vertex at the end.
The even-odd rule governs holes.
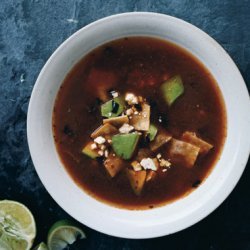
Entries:
POLYGON ((30 249, 35 236, 35 220, 29 209, 16 201, 0 201, 0 249, 30 249))

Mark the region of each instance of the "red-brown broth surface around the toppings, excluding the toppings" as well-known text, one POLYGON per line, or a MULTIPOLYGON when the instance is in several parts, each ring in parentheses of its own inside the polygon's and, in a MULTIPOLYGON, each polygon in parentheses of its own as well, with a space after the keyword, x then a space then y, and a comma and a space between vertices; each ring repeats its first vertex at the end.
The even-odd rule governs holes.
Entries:
MULTIPOLYGON (((145 209, 181 198, 204 181, 223 148, 226 113, 215 79, 189 52, 159 39, 130 37, 98 47, 73 67, 57 95, 53 132, 61 161, 81 188, 115 206, 145 209), (168 108, 159 86, 176 74, 181 75, 185 92, 168 108), (96 98, 98 89, 106 85, 146 97, 152 105, 151 121, 175 138, 194 131, 214 148, 199 157, 192 169, 175 165, 159 173, 137 197, 124 172, 111 179, 101 163, 81 153, 102 123, 96 98)), ((160 149, 163 155, 167 147, 160 149)))

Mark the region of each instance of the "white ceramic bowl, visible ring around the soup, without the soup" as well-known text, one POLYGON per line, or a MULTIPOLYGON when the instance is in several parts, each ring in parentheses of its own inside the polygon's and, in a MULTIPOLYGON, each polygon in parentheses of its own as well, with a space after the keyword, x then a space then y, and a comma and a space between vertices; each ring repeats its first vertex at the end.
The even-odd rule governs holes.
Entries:
POLYGON ((43 67, 30 99, 28 142, 36 171, 55 201, 71 216, 100 232, 125 238, 151 238, 180 231, 200 221, 233 190, 250 151, 249 95, 232 59, 210 36, 180 19, 156 13, 124 13, 94 22, 67 39, 43 67), (144 211, 101 203, 80 189, 58 157, 52 136, 57 91, 70 69, 89 51, 125 36, 172 41, 198 57, 223 93, 228 136, 220 160, 206 181, 187 197, 144 211))

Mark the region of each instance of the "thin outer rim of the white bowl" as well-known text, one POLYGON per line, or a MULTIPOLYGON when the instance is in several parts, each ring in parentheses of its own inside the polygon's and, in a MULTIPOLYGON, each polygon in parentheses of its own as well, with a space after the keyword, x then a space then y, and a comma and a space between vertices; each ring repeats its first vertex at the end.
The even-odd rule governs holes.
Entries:
MULTIPOLYGON (((84 220, 84 221, 79 220, 79 216, 74 214, 71 211, 71 209, 69 209, 69 207, 66 207, 63 204, 63 201, 60 200, 60 198, 57 197, 57 195, 51 190, 51 188, 48 188, 45 177, 41 174, 40 170, 37 167, 40 163, 36 159, 37 149, 35 149, 35 147, 34 147, 34 144, 35 144, 34 131, 32 132, 32 130, 34 129, 32 127, 33 126, 32 125, 32 114, 34 112, 33 104, 36 102, 35 96, 36 96, 36 92, 38 91, 37 90, 38 85, 39 85, 39 82, 41 81, 41 78, 42 78, 43 74, 46 73, 48 65, 51 63, 52 60, 54 60, 57 57, 57 54, 60 53, 60 51, 62 49, 64 49, 64 47, 68 43, 70 43, 72 40, 76 39, 77 36, 80 33, 84 32, 85 30, 91 29, 93 26, 101 25, 101 24, 105 23, 106 21, 115 21, 117 18, 118 19, 119 18, 124 18, 124 17, 125 18, 126 17, 132 18, 132 17, 135 17, 135 16, 142 16, 144 18, 151 18, 151 17, 153 17, 153 18, 157 18, 157 17, 165 18, 166 20, 168 19, 168 20, 172 20, 174 22, 177 22, 180 25, 184 25, 184 26, 192 29, 194 32, 198 32, 201 35, 203 35, 206 39, 208 39, 210 42, 212 42, 213 45, 224 54, 224 56, 227 57, 227 60, 230 61, 230 64, 231 64, 232 68, 234 69, 235 73, 237 74, 237 77, 238 77, 240 83, 243 83, 243 84, 241 84, 242 92, 245 93, 245 94, 248 93, 247 87, 246 87, 246 85, 244 83, 244 80, 243 80, 241 74, 240 74, 240 71, 238 70, 237 66, 235 65, 235 63, 233 62, 231 57, 228 55, 228 53, 213 38, 211 38, 208 34, 203 32, 202 30, 200 30, 196 26, 194 26, 194 25, 192 25, 192 24, 190 24, 190 23, 188 23, 186 21, 183 21, 183 20, 181 20, 179 18, 172 17, 172 16, 165 15, 165 14, 154 13, 154 12, 126 12, 126 13, 121 13, 121 14, 115 14, 115 15, 111 15, 111 16, 99 19, 99 20, 97 20, 95 22, 92 22, 92 23, 86 25, 85 27, 79 29, 78 31, 76 31, 68 39, 66 39, 53 52, 53 54, 47 60, 47 62, 45 63, 44 67, 42 68, 42 70, 41 70, 41 72, 40 72, 40 74, 39 74, 39 76, 38 76, 38 78, 36 80, 36 83, 35 83, 35 86, 33 88, 31 98, 30 98, 29 107, 28 107, 28 114, 27 114, 27 137, 28 137, 28 145, 29 145, 31 158, 32 158, 32 161, 34 163, 37 174, 38 174, 40 180, 42 181, 44 187, 47 189, 49 194, 56 201, 56 203, 59 204, 59 206, 61 208, 63 208, 68 214, 70 214, 76 220, 78 220, 78 221, 84 223, 85 225, 91 227, 92 229, 95 229, 95 230, 100 231, 102 233, 109 234, 109 235, 112 235, 112 236, 117 236, 117 237, 123 237, 123 238, 143 239, 143 238, 154 238, 154 237, 164 236, 164 235, 167 235, 167 234, 175 233, 177 231, 181 231, 183 229, 186 229, 186 228, 194 225, 195 223, 199 222, 200 220, 205 218, 207 215, 209 215, 211 212, 213 212, 228 197, 228 195, 232 192, 232 190, 236 186, 237 182, 239 181, 239 179, 240 179, 240 177, 241 177, 241 175, 242 175, 242 173, 243 173, 243 171, 245 169, 247 161, 248 161, 249 151, 250 151, 250 140, 247 139, 247 138, 245 139, 244 143, 245 143, 245 146, 247 146, 247 147, 246 147, 246 149, 244 151, 242 150, 242 152, 241 152, 241 159, 242 159, 241 164, 240 164, 239 168, 237 169, 237 173, 231 179, 230 185, 228 185, 227 187, 224 187, 223 195, 220 196, 219 198, 217 197, 217 199, 214 199, 213 205, 210 206, 209 208, 207 208, 206 210, 204 209, 203 211, 200 211, 200 213, 197 214, 197 216, 195 218, 191 218, 191 220, 189 220, 187 222, 185 221, 185 223, 183 225, 178 225, 174 229, 169 230, 168 232, 166 232, 164 230, 162 230, 161 232, 160 231, 157 231, 157 232, 152 231, 151 233, 148 233, 148 232, 147 233, 145 233, 145 232, 136 233, 136 232, 134 232, 134 235, 133 234, 128 235, 124 231, 116 232, 114 230, 114 228, 111 229, 112 226, 110 227, 110 226, 107 226, 107 225, 98 225, 98 224, 96 224, 96 221, 94 221, 94 223, 93 223, 90 220, 84 220)), ((244 98, 245 98, 245 96, 244 96, 244 98)), ((249 101, 249 95, 248 95, 248 101, 249 101)), ((250 116, 249 116, 249 114, 250 114, 250 107, 245 107, 245 115, 248 118, 245 125, 247 125, 247 124, 250 125, 250 120, 249 120, 250 116)), ((143 211, 145 211, 145 210, 143 210, 143 211)), ((136 213, 136 211, 133 211, 133 212, 136 213)), ((122 221, 121 221, 120 225, 122 225, 122 221)))

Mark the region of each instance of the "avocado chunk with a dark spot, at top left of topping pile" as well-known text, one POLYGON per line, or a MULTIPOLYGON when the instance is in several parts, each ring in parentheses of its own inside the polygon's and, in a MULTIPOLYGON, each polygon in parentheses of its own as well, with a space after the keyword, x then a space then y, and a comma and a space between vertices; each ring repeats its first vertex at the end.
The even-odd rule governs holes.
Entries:
POLYGON ((124 111, 125 103, 121 96, 116 97, 101 106, 101 114, 104 117, 117 117, 124 111))

